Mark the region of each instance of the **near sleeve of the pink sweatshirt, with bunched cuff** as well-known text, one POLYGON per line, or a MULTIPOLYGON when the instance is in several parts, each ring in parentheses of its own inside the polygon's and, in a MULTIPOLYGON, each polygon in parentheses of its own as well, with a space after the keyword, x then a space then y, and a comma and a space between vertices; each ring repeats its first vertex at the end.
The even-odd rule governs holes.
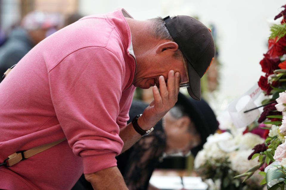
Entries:
POLYGON ((49 71, 52 102, 69 146, 84 173, 116 166, 123 146, 119 102, 124 59, 104 47, 79 49, 49 71))

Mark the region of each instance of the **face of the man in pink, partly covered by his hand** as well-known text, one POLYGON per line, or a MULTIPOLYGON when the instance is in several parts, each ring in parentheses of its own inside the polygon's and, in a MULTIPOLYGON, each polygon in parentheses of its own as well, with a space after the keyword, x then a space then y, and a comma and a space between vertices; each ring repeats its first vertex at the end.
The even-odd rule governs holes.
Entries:
POLYGON ((180 73, 180 82, 188 80, 183 60, 174 56, 155 56, 144 65, 137 64, 137 71, 133 82, 133 85, 136 87, 143 89, 148 89, 154 85, 159 87, 159 76, 162 75, 167 83, 168 72, 170 70, 174 70, 174 73, 180 73))

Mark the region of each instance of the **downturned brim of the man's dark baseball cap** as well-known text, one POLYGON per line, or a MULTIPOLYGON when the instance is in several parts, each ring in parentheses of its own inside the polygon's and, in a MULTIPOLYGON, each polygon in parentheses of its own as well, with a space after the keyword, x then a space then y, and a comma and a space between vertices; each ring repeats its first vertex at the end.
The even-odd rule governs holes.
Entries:
POLYGON ((195 71, 194 67, 188 61, 189 85, 187 88, 189 95, 195 99, 200 100, 200 76, 195 71))

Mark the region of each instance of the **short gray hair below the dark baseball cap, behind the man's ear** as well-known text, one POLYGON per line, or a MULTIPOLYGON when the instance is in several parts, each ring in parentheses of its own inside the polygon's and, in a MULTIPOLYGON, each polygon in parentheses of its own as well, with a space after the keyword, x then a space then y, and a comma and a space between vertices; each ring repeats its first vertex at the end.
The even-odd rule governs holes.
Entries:
MULTIPOLYGON (((174 39, 172 38, 171 34, 169 33, 169 31, 165 25, 165 21, 163 20, 162 17, 151 18, 149 20, 153 21, 153 28, 151 29, 152 37, 154 37, 156 39, 168 39, 168 40, 171 40, 172 42, 174 42, 174 39)), ((182 53, 178 49, 177 51, 174 52, 173 56, 177 59, 181 59, 182 53)))

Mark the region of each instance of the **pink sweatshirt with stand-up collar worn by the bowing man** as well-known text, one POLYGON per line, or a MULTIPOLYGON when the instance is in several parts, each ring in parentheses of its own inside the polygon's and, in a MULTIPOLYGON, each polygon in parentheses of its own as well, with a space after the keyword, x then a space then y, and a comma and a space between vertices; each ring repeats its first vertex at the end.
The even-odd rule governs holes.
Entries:
POLYGON ((0 83, 0 163, 62 139, 11 167, 0 189, 71 189, 116 166, 136 63, 123 9, 84 17, 36 45, 0 83), (124 14, 124 15, 123 15, 124 14))

